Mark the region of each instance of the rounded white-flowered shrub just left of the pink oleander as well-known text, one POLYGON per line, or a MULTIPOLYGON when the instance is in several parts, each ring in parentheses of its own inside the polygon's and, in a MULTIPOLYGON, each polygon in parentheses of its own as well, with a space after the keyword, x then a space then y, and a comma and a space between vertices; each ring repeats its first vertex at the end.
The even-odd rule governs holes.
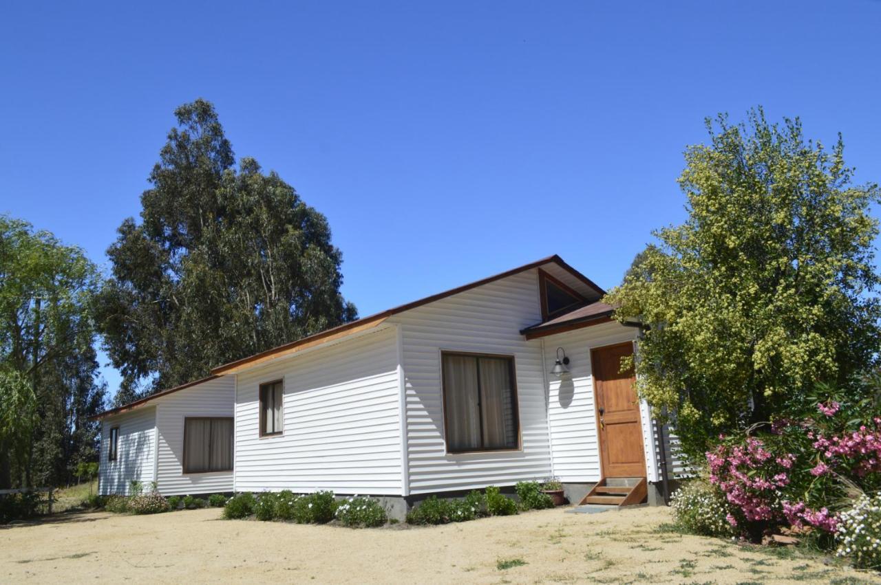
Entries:
POLYGON ((670 497, 673 520, 679 530, 705 537, 732 537, 738 532, 729 518, 741 517, 716 486, 700 479, 687 482, 670 497))

